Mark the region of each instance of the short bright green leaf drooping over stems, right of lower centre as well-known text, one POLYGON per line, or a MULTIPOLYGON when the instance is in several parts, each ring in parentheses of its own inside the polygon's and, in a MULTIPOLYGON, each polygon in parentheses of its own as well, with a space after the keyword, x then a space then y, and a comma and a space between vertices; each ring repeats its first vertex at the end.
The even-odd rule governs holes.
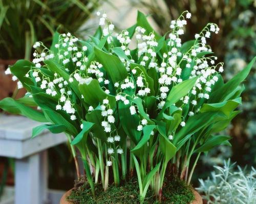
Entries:
POLYGON ((160 134, 159 137, 159 147, 164 155, 165 163, 172 159, 176 154, 176 147, 162 134, 160 134))

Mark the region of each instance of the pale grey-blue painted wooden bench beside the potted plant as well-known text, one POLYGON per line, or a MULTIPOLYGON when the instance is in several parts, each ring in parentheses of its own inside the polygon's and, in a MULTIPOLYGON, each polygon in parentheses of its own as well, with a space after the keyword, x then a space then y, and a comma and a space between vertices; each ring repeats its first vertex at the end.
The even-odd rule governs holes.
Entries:
POLYGON ((26 117, 0 114, 0 156, 15 159, 15 204, 51 203, 47 149, 67 138, 44 131, 31 139, 33 127, 40 124, 26 117))

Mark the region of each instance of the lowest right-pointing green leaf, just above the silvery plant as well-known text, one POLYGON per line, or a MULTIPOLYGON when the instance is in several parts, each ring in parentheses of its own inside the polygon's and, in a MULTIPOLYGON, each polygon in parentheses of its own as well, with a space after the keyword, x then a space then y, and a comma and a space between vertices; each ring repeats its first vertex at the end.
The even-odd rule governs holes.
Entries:
POLYGON ((197 148, 195 150, 195 152, 209 151, 210 149, 214 148, 215 146, 223 144, 230 139, 231 139, 230 136, 225 136, 225 135, 212 136, 210 139, 206 140, 203 143, 203 145, 201 145, 199 148, 197 148))

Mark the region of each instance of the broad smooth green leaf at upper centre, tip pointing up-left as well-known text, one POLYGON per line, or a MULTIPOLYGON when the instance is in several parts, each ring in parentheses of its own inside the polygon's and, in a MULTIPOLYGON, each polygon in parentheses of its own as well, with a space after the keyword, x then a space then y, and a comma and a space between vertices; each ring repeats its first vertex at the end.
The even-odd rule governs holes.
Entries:
POLYGON ((126 68, 118 57, 105 53, 97 47, 94 47, 94 53, 113 83, 122 81, 128 76, 126 68))

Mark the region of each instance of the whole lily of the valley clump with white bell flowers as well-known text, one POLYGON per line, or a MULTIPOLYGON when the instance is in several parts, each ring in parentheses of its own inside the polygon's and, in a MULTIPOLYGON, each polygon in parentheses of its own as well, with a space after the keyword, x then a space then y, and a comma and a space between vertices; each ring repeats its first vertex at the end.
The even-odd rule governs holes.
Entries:
POLYGON ((7 70, 28 93, 0 106, 46 122, 33 137, 44 129, 65 132, 74 157, 74 148, 80 151, 93 194, 95 184, 107 190, 136 170, 141 202, 148 188, 161 200, 166 174, 189 184, 202 152, 229 145, 230 137, 218 132, 240 113, 240 84, 255 61, 224 83, 223 64, 206 44, 218 26, 208 23, 182 43, 190 17, 183 12, 164 36, 140 12, 119 34, 105 14, 87 41, 56 33, 50 49, 37 42, 32 62, 7 70))

